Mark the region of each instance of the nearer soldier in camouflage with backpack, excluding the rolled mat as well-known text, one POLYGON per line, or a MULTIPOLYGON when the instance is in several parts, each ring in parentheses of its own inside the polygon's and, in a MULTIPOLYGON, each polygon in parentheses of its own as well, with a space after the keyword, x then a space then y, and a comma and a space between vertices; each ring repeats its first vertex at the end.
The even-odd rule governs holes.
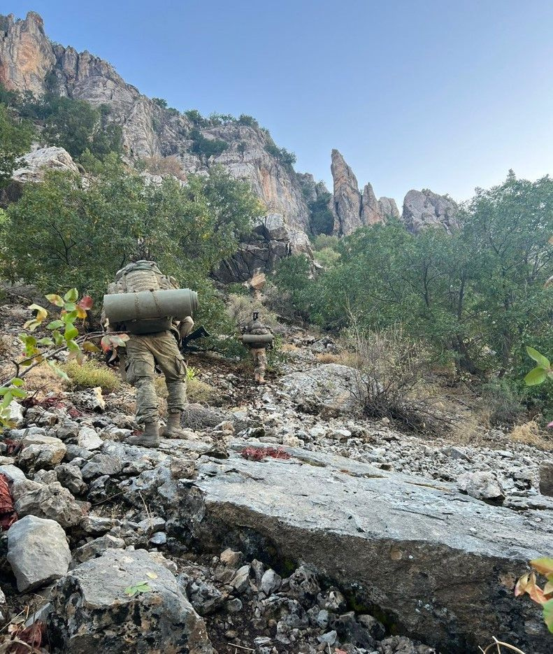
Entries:
MULTIPOLYGON (((108 294, 175 288, 178 288, 175 278, 164 276, 155 262, 141 260, 117 271, 115 283, 108 287, 108 294)), ((127 331, 124 324, 106 325, 106 322, 104 315, 103 324, 108 330, 127 331)), ((187 404, 187 369, 178 343, 189 334, 193 326, 192 318, 181 322, 171 320, 170 324, 165 325, 163 322, 152 322, 151 333, 129 334, 127 347, 117 351, 120 357, 111 350, 107 353, 108 365, 115 364, 120 358, 122 378, 136 387, 136 422, 144 425, 144 431, 138 436, 130 436, 126 443, 145 447, 159 446, 159 409, 154 385, 156 366, 165 376, 168 392, 168 418, 161 435, 165 438, 184 436, 180 422, 187 404)))

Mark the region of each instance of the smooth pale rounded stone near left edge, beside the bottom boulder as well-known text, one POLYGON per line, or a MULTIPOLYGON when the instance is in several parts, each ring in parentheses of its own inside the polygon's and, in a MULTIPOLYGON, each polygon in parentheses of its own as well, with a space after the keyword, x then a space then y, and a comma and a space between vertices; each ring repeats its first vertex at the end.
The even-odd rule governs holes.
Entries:
POLYGON ((55 520, 25 516, 8 529, 8 562, 17 590, 41 588, 66 574, 71 552, 55 520))

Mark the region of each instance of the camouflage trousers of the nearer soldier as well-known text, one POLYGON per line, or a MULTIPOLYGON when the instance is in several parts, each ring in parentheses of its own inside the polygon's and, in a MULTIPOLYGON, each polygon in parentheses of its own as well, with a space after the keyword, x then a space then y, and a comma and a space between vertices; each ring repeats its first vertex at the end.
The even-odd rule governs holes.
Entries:
POLYGON ((186 364, 171 332, 132 334, 127 341, 127 381, 136 386, 136 422, 159 418, 155 392, 155 366, 161 368, 167 385, 167 410, 182 411, 186 405, 186 364))

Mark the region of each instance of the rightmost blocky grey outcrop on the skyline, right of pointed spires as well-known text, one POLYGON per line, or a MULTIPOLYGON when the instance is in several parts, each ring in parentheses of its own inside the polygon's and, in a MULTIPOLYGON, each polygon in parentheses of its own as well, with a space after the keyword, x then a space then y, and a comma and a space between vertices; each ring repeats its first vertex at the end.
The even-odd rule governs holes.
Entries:
POLYGON ((456 225, 457 211, 457 204, 445 195, 428 189, 410 190, 403 200, 402 220, 413 234, 424 227, 443 227, 450 233, 456 225))

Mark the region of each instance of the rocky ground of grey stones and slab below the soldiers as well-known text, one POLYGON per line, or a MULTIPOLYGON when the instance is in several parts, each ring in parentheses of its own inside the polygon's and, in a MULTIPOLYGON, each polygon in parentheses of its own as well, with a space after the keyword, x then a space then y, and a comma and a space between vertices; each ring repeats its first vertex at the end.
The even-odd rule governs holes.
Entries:
MULTIPOLYGON (((14 344, 21 310, 0 309, 14 344)), ((18 518, 3 634, 75 653, 430 654, 494 635, 548 651, 512 587, 552 549, 551 455, 364 420, 351 369, 317 360, 332 341, 287 343, 264 387, 195 357, 217 406, 190 406, 187 438, 155 449, 122 442, 128 387, 22 407, 0 446, 0 519, 18 518)))

